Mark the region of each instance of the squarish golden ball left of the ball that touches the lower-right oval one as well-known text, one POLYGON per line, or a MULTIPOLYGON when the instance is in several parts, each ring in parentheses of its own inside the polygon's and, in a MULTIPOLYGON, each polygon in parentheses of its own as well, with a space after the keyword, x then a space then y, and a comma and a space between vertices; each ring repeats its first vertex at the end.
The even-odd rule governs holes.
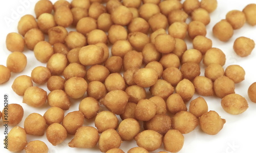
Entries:
POLYGON ((202 96, 214 95, 214 83, 209 78, 197 76, 194 79, 193 84, 198 94, 202 96))

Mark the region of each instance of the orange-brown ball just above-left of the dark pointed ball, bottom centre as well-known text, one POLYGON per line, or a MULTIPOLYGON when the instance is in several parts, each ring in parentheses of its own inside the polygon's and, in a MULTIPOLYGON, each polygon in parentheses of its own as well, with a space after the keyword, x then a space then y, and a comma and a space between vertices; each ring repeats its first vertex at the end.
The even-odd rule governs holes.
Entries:
POLYGON ((148 99, 139 100, 135 109, 135 118, 141 121, 152 119, 157 112, 157 105, 148 99))

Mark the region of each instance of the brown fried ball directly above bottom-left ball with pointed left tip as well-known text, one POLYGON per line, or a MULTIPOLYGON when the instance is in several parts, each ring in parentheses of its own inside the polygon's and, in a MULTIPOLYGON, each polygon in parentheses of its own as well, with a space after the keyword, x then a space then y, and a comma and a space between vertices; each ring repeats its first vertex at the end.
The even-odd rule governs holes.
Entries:
POLYGON ((74 135, 79 127, 82 126, 84 117, 82 112, 74 111, 68 113, 62 120, 62 125, 67 130, 68 134, 74 135))

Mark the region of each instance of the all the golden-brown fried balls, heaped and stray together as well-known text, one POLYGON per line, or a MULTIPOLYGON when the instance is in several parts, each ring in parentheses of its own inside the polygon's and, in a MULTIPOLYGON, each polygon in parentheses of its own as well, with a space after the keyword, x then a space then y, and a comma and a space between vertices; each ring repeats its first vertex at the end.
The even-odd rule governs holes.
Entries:
MULTIPOLYGON (((226 121, 217 112, 208 111, 202 96, 221 98, 221 106, 229 114, 243 113, 248 103, 234 92, 234 85, 244 80, 244 69, 229 65, 224 70, 225 54, 205 37, 209 14, 216 8, 216 0, 185 0, 183 4, 178 0, 38 1, 36 17, 23 16, 18 33, 6 37, 12 53, 7 65, 0 65, 0 84, 10 79, 11 72, 25 69, 26 46, 36 60, 47 64, 35 67, 30 77, 17 77, 12 89, 28 106, 39 108, 47 101, 50 108, 43 116, 28 115, 23 128, 16 126, 23 118, 23 107, 10 104, 8 124, 15 127, 8 134, 8 150, 48 152, 44 142, 27 143, 26 139, 26 135, 46 133, 54 146, 69 134, 74 135, 70 147, 98 144, 101 152, 121 153, 121 142, 134 139, 138 147, 129 153, 154 151, 162 143, 166 151, 178 152, 183 147, 183 134, 198 125, 206 134, 218 134, 226 121), (187 18, 191 19, 188 24, 187 18), (68 27, 76 31, 68 32, 68 27), (187 49, 186 35, 193 49, 187 49), (199 76, 201 61, 206 67, 204 76, 199 76), (38 87, 44 84, 50 93, 38 87), (187 111, 186 103, 195 92, 202 96, 191 100, 187 111), (65 116, 71 98, 83 99, 77 111, 65 116), (108 111, 100 111, 100 105, 108 111), (95 127, 83 126, 84 118, 93 118, 95 127)), ((243 11, 232 10, 212 32, 219 40, 228 41, 233 30, 242 28, 246 21, 256 25, 255 16, 256 4, 243 11)), ((233 49, 245 57, 254 45, 253 40, 240 37, 233 49)), ((248 96, 256 103, 256 83, 249 87, 248 96)))

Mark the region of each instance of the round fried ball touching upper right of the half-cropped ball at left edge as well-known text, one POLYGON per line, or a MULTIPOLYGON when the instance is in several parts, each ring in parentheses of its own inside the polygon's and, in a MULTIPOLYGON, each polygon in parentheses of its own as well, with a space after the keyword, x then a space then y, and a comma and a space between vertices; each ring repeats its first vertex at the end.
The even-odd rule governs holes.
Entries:
POLYGON ((26 66, 27 66, 27 57, 23 53, 13 52, 7 58, 6 67, 8 67, 10 71, 14 73, 22 72, 26 68, 26 66))

